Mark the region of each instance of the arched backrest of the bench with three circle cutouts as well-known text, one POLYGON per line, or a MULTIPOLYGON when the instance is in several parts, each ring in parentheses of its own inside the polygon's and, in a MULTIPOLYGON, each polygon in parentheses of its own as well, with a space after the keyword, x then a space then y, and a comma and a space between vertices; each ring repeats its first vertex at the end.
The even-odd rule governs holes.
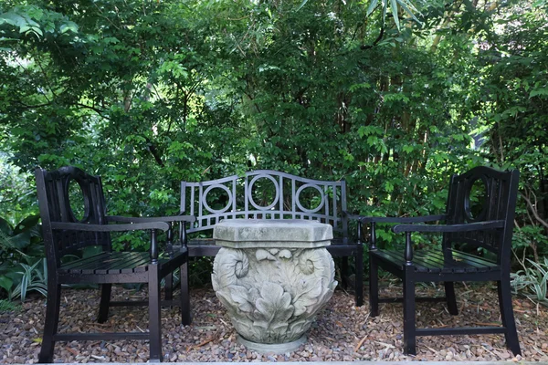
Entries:
POLYGON ((257 170, 199 183, 181 183, 181 214, 195 215, 189 234, 212 229, 223 219, 307 219, 332 224, 348 237, 346 183, 257 170))

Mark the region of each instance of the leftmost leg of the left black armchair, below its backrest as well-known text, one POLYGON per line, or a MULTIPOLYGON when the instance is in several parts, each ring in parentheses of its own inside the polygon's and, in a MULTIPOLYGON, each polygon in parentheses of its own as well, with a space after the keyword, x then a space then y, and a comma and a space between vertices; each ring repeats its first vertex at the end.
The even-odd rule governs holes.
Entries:
POLYGON ((53 349, 55 341, 53 336, 58 331, 59 323, 59 305, 61 301, 61 286, 58 284, 47 286, 47 308, 46 324, 44 325, 44 335, 42 337, 42 348, 38 355, 38 362, 53 362, 53 349))

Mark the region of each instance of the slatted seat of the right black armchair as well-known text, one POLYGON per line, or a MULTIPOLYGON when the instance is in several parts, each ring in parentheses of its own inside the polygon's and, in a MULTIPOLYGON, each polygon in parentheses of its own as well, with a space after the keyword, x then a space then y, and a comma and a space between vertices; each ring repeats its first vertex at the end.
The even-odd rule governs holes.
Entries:
MULTIPOLYGON (((477 255, 470 255, 458 250, 450 250, 453 259, 450 262, 444 262, 441 251, 417 250, 413 255, 413 265, 415 271, 419 273, 480 273, 500 271, 501 266, 486 258, 477 255)), ((390 250, 371 251, 370 255, 375 255, 379 259, 393 266, 403 268, 406 259, 403 252, 390 250)))

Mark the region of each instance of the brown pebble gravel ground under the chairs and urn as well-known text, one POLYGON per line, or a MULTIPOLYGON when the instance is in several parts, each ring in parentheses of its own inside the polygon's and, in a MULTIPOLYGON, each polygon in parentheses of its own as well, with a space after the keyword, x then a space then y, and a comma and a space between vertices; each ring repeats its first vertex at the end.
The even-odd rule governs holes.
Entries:
MULTIPOLYGON (((416 306, 420 327, 478 326, 500 323, 496 289, 457 286, 458 316, 450 316, 442 303, 416 306)), ((396 294, 392 284, 383 289, 396 294)), ((432 294, 437 287, 422 287, 432 294)), ((113 288, 117 299, 145 296, 113 288)), ((62 297, 59 330, 142 331, 147 329, 146 308, 111 308, 107 323, 94 322, 98 290, 66 289, 62 297)), ((527 299, 514 297, 514 311, 523 356, 514 358, 501 335, 421 337, 416 357, 402 354, 402 306, 386 304, 381 315, 369 318, 367 306, 355 308, 353 295, 337 290, 318 315, 309 340, 293 353, 260 355, 237 344, 237 334, 227 312, 211 289, 192 293, 194 321, 182 327, 177 308, 162 311, 163 353, 171 361, 352 361, 352 360, 529 360, 548 361, 548 310, 527 299)), ((26 302, 16 312, 0 314, 0 363, 35 363, 40 348, 46 303, 43 298, 26 302)), ((143 341, 58 342, 56 362, 144 362, 148 343, 143 341)))

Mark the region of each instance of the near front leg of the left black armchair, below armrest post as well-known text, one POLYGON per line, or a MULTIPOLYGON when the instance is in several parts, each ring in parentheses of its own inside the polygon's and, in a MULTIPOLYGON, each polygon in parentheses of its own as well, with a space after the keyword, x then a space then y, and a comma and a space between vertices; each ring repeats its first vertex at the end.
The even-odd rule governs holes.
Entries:
POLYGON ((149 333, 150 362, 161 362, 162 355, 162 330, 161 321, 161 300, 160 297, 160 270, 158 265, 149 266, 149 333))

